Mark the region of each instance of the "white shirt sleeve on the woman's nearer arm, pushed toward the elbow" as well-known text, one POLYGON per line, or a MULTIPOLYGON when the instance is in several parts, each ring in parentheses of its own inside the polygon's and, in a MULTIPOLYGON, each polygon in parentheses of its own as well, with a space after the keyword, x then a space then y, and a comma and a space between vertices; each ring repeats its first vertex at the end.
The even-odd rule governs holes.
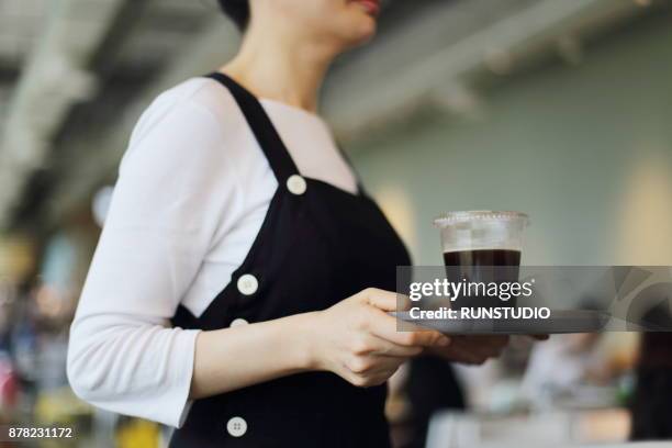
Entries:
POLYGON ((96 406, 180 427, 199 331, 169 318, 240 206, 239 182, 210 110, 165 105, 145 113, 122 160, 70 328, 68 378, 96 406))

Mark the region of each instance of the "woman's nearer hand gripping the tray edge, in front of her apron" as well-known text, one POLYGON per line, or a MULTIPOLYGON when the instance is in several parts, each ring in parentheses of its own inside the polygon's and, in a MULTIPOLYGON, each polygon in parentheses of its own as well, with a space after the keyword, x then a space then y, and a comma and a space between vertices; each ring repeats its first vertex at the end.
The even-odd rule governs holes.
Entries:
POLYGON ((367 289, 313 314, 311 360, 315 370, 332 371, 358 387, 384 383, 410 357, 446 347, 436 331, 399 332, 396 293, 367 289))

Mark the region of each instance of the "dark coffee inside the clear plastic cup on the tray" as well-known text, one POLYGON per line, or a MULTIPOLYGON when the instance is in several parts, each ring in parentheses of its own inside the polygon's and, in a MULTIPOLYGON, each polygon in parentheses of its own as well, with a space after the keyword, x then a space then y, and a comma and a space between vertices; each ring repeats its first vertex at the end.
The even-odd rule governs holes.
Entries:
MULTIPOLYGON (((444 254, 447 279, 450 282, 483 283, 483 288, 493 284, 518 281, 520 251, 511 249, 458 250, 444 254)), ((475 289, 475 288, 474 288, 475 289)), ((477 291, 483 291, 478 290, 477 291)), ((452 303, 453 309, 462 306, 515 306, 515 298, 502 301, 481 292, 452 303)))

